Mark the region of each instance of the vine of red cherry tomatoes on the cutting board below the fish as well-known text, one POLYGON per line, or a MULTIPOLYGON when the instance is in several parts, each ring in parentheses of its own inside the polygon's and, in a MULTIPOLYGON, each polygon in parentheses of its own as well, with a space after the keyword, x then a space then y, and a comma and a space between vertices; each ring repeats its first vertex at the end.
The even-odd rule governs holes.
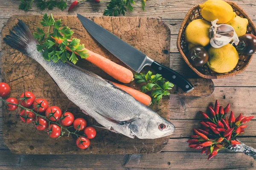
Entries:
MULTIPOLYGON (((7 83, 0 82, 0 97, 8 96, 10 93, 10 89, 11 88, 7 83)), ((35 99, 35 95, 32 92, 26 91, 20 95, 19 99, 9 97, 5 101, 6 102, 4 103, 6 105, 6 109, 9 111, 15 111, 18 107, 27 108, 28 110, 22 108, 22 110, 20 111, 20 119, 25 123, 33 122, 37 130, 46 130, 47 134, 51 138, 58 138, 62 136, 64 133, 62 133, 61 128, 69 128, 73 125, 73 128, 76 131, 70 131, 70 133, 76 133, 76 136, 78 136, 78 138, 76 139, 77 147, 79 147, 80 149, 86 149, 90 145, 89 139, 93 139, 96 136, 95 128, 91 126, 86 127, 87 122, 85 119, 75 119, 74 115, 70 112, 65 112, 62 114, 59 107, 49 107, 49 103, 46 99, 35 99), (32 111, 32 109, 34 112, 32 111), (39 114, 43 117, 41 117, 39 114), (46 119, 44 118, 44 116, 46 117, 46 119), (58 124, 58 121, 63 126, 58 124), (83 130, 85 136, 77 134, 80 130, 83 130)))

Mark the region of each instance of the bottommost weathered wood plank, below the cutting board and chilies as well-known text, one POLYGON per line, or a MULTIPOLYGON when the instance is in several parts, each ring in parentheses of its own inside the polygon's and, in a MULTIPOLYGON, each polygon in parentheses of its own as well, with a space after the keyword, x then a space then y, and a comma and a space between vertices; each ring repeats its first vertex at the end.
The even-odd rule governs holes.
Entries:
MULTIPOLYGON (((211 161, 205 155, 193 152, 164 152, 146 155, 15 155, 0 150, 1 169, 31 169, 35 167, 58 169, 255 169, 253 158, 244 153, 218 153, 211 161), (200 163, 199 163, 200 161, 200 163), (58 162, 58 163, 56 163, 58 162), (228 163, 227 163, 228 162, 228 163), (210 165, 209 167, 207 165, 210 165)), ((37 168, 37 169, 40 169, 37 168)))

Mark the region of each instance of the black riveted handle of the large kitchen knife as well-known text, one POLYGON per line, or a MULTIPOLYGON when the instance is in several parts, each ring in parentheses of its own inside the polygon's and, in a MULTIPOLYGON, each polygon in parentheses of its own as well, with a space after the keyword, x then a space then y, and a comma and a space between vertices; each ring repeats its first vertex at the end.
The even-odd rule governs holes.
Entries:
POLYGON ((179 86, 184 92, 189 92, 194 89, 194 86, 187 79, 171 68, 161 65, 156 61, 151 64, 151 68, 157 71, 158 74, 162 74, 163 78, 179 86))

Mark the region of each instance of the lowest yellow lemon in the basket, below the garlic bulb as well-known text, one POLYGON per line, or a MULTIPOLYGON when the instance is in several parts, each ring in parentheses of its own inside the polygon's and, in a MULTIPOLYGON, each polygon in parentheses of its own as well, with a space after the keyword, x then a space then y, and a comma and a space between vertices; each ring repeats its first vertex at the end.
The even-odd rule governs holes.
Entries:
POLYGON ((231 44, 224 45, 221 48, 210 47, 208 55, 207 65, 216 73, 227 73, 233 70, 239 59, 236 48, 231 44))

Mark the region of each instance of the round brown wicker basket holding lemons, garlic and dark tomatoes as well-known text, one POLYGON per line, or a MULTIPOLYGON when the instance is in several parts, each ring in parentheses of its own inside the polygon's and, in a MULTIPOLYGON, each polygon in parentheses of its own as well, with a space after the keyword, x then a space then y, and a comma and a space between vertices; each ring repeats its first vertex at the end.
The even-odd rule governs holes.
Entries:
MULTIPOLYGON (((226 0, 227 3, 229 3, 232 7, 233 7, 233 11, 236 12, 236 14, 240 17, 243 18, 247 18, 248 19, 248 25, 247 25, 247 34, 253 34, 256 35, 256 27, 253 23, 253 21, 250 19, 250 17, 246 14, 246 12, 240 8, 236 3, 232 2, 232 1, 228 1, 226 0)), ((196 73, 198 74, 198 76, 203 77, 205 79, 220 79, 220 78, 225 78, 225 77, 231 77, 234 76, 236 74, 241 73, 242 71, 244 71, 247 66, 249 65, 251 59, 253 58, 253 55, 249 56, 249 55, 239 55, 239 61, 236 65, 236 67, 228 72, 228 73, 224 73, 224 74, 218 74, 215 73, 213 71, 211 71, 207 65, 203 65, 201 67, 194 67, 189 60, 187 59, 186 55, 188 53, 188 43, 185 42, 185 37, 184 37, 184 33, 185 33, 185 29, 186 26, 188 26, 188 24, 192 21, 192 20, 196 20, 196 19, 201 19, 201 8, 199 8, 199 5, 196 5, 194 7, 192 7, 189 12, 186 14, 186 17, 184 18, 181 27, 180 27, 180 31, 178 34, 178 38, 177 38, 177 48, 182 56, 182 58, 185 60, 185 62, 187 63, 187 65, 189 65, 189 67, 196 73)))

